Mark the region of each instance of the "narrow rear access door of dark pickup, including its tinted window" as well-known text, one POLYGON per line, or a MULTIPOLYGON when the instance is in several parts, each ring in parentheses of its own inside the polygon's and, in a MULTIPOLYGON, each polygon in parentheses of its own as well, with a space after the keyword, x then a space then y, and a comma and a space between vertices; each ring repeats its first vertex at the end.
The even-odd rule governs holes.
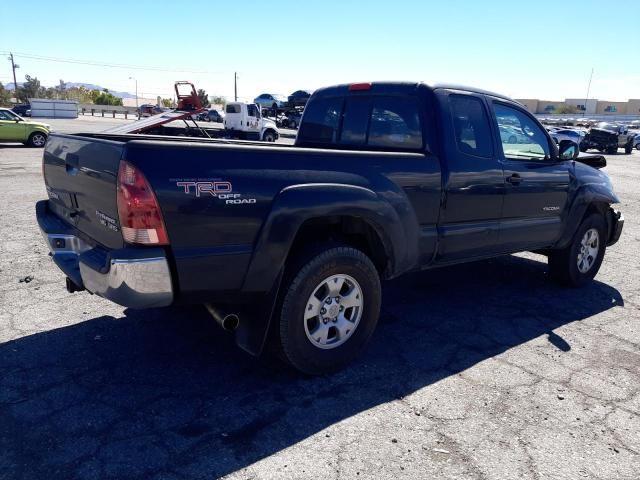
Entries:
POLYGON ((480 95, 440 91, 444 196, 435 263, 489 256, 498 249, 504 174, 480 95))

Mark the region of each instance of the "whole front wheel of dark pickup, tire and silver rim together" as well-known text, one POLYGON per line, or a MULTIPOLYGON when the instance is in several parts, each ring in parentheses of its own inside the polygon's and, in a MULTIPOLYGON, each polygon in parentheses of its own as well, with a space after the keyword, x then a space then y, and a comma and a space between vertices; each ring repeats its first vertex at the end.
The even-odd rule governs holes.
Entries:
POLYGON ((607 225, 599 213, 586 217, 571 243, 549 255, 549 272, 563 285, 582 287, 598 273, 607 243, 607 225))

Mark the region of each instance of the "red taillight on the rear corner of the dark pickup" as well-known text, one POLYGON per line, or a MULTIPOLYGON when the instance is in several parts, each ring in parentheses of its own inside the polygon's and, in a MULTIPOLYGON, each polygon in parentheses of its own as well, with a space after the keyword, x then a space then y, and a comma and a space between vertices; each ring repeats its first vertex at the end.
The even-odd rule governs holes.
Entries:
POLYGON ((124 160, 118 170, 118 216, 128 243, 168 245, 160 206, 140 170, 124 160))

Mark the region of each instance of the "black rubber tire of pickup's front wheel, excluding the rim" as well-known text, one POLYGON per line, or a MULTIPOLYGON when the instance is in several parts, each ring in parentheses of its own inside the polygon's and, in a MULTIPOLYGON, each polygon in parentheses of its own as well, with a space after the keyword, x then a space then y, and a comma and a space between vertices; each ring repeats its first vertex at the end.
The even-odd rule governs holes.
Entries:
POLYGON ((563 285, 582 287, 589 283, 598 273, 607 244, 607 225, 604 217, 599 213, 592 213, 582 221, 571 243, 562 250, 552 251, 549 255, 549 272, 551 276, 563 285), (578 255, 581 252, 582 240, 585 234, 595 229, 598 232, 597 256, 590 268, 581 272, 578 268, 578 255))

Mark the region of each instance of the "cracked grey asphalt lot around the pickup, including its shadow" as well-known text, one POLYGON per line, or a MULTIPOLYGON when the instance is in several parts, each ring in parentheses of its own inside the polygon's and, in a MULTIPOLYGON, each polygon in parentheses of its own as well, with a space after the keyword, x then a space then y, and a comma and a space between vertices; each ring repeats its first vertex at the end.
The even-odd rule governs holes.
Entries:
POLYGON ((640 152, 608 156, 626 223, 591 285, 528 253, 386 282, 365 355, 321 378, 199 307, 68 294, 41 155, 0 145, 0 479, 640 478, 640 152))

